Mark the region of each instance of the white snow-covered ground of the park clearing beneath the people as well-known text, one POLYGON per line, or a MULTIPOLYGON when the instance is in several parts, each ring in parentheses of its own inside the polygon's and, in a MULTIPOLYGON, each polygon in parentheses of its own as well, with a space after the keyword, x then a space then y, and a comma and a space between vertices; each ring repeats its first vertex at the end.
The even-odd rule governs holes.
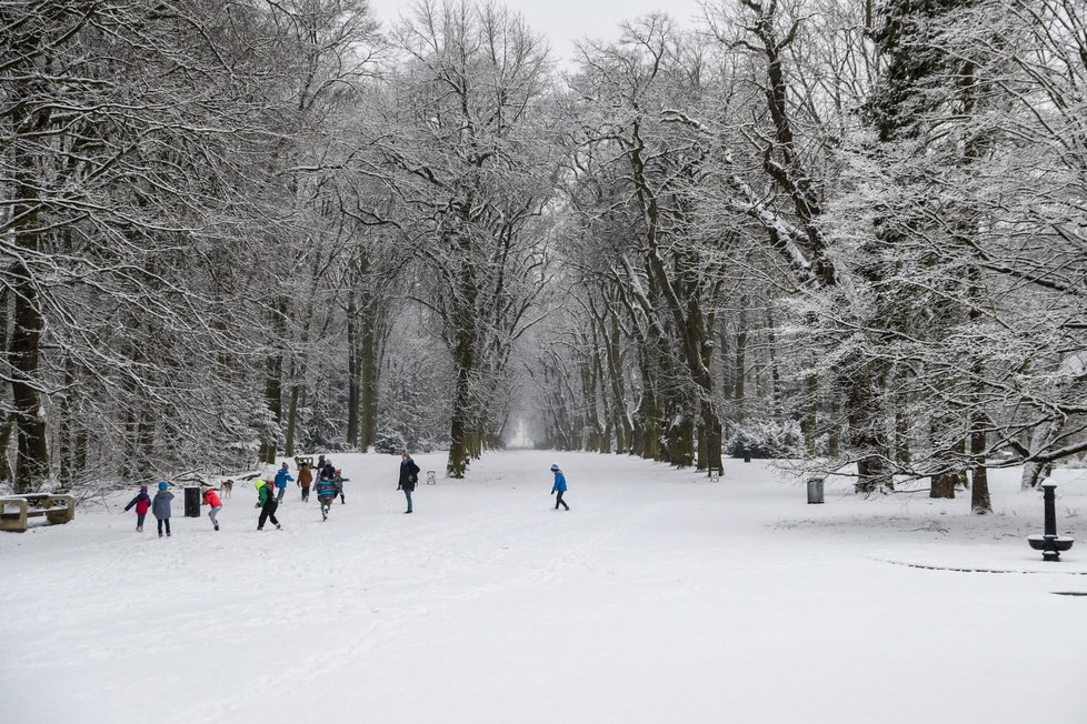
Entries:
POLYGON ((327 523, 292 487, 258 533, 238 486, 219 533, 179 495, 172 537, 138 534, 127 493, 0 534, 0 721, 1087 722, 1087 597, 1054 595, 1087 593, 1081 471, 1043 564, 1015 471, 977 517, 845 481, 807 505, 759 462, 506 452, 403 515, 399 459, 335 462, 327 523))

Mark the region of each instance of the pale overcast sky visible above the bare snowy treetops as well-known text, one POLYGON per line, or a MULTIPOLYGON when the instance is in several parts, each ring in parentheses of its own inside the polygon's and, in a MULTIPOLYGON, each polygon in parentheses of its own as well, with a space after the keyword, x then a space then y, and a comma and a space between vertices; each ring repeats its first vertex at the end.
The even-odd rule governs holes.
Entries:
MULTIPOLYGON (((398 0, 371 0, 383 26, 400 16, 410 3, 398 0)), ((525 16, 529 26, 551 42, 556 60, 569 61, 574 41, 590 38, 615 38, 622 20, 654 10, 664 10, 682 26, 689 26, 699 12, 697 0, 507 0, 506 7, 525 16)))

